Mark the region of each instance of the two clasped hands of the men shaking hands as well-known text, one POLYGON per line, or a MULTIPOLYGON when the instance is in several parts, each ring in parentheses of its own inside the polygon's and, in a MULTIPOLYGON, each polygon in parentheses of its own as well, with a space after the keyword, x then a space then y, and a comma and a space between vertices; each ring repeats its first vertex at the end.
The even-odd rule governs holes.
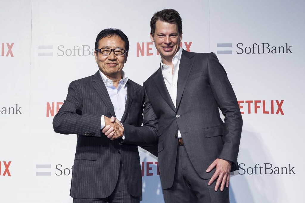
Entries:
POLYGON ((114 116, 111 118, 105 117, 105 127, 102 129, 104 133, 111 141, 116 140, 124 135, 124 127, 122 123, 114 116))

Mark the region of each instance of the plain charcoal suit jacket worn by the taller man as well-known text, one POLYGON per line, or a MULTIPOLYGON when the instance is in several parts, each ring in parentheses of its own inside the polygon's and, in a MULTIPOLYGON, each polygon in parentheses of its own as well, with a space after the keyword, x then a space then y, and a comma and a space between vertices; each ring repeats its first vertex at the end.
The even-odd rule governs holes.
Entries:
POLYGON ((237 155, 242 116, 227 74, 214 53, 183 50, 178 73, 177 104, 174 106, 165 86, 161 65, 143 84, 147 99, 159 120, 158 161, 162 188, 173 184, 178 129, 188 156, 199 176, 216 159, 232 161, 238 169, 237 155), (224 123, 219 109, 225 116, 224 123))

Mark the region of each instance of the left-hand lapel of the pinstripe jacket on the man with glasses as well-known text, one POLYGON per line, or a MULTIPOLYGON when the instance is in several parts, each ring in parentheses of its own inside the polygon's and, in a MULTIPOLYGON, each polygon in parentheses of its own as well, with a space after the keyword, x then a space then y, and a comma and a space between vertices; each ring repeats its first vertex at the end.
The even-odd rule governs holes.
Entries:
POLYGON ((115 116, 115 112, 113 109, 111 99, 109 97, 108 91, 106 89, 106 86, 102 80, 102 77, 101 77, 99 71, 94 74, 92 81, 93 81, 93 87, 99 93, 102 101, 104 102, 106 107, 109 109, 111 116, 115 116))

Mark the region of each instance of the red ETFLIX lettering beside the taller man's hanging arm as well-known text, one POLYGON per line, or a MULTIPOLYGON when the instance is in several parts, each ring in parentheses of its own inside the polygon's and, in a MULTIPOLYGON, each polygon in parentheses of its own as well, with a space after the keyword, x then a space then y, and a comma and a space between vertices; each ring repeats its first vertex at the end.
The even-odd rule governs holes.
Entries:
POLYGON ((241 114, 277 114, 284 115, 282 105, 284 100, 246 100, 238 101, 241 114))

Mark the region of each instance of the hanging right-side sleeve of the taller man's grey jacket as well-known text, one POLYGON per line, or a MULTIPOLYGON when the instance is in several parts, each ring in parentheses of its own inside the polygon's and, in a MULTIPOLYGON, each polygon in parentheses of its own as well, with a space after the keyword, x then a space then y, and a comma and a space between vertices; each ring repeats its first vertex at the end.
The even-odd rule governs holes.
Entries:
POLYGON ((224 145, 218 158, 232 161, 232 166, 233 164, 236 166, 242 132, 242 115, 227 73, 214 53, 209 55, 208 77, 214 98, 225 117, 224 145))

